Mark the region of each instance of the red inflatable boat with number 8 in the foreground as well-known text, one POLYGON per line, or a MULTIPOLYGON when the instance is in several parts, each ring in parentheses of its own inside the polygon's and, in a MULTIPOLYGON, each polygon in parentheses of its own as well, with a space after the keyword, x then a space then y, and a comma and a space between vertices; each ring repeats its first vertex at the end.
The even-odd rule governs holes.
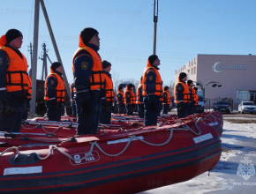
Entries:
POLYGON ((136 193, 192 179, 222 154, 218 132, 202 118, 104 131, 0 147, 0 193, 136 193))

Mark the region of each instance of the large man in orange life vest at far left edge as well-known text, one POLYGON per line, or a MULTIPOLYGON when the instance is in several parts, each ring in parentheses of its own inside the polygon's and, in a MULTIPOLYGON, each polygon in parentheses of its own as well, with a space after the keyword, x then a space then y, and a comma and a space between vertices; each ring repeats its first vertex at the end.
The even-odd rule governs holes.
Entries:
POLYGON ((26 57, 19 51, 23 35, 8 30, 0 38, 0 131, 19 132, 29 86, 26 57))

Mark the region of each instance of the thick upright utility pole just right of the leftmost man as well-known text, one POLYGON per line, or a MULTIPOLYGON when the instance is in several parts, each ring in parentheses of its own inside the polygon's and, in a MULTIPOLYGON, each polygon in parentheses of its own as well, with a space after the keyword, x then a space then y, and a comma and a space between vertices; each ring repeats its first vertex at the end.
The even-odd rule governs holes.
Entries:
POLYGON ((36 71, 37 71, 37 51, 38 51, 38 31, 39 31, 39 6, 40 0, 34 2, 34 47, 32 58, 32 94, 31 94, 31 107, 30 113, 35 116, 35 103, 36 103, 36 71))

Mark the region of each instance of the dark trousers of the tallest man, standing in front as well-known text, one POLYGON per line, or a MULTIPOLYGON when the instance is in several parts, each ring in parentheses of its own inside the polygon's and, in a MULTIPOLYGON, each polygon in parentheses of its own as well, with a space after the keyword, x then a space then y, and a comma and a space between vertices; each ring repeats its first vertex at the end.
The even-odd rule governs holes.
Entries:
POLYGON ((102 101, 99 99, 89 100, 90 114, 84 115, 81 113, 82 101, 79 98, 75 99, 77 106, 77 135, 97 134, 98 124, 101 115, 102 101))

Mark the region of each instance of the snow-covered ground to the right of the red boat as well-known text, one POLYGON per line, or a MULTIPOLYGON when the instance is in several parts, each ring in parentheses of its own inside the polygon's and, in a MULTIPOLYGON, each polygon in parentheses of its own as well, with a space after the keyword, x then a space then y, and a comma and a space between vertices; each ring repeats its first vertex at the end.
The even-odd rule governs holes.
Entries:
MULTIPOLYGON (((225 118, 227 119, 227 118, 225 118)), ((230 118, 229 118, 230 119, 230 118)), ((245 118, 233 118, 243 119, 245 118)), ((254 120, 254 119, 253 119, 254 120)), ((184 183, 177 183, 154 190, 140 192, 140 194, 167 193, 256 193, 256 123, 230 123, 224 120, 222 133, 222 157, 210 172, 199 175, 184 183), (237 168, 243 164, 251 164, 252 175, 239 176, 237 168)), ((244 169, 242 169, 244 171, 244 169)))

